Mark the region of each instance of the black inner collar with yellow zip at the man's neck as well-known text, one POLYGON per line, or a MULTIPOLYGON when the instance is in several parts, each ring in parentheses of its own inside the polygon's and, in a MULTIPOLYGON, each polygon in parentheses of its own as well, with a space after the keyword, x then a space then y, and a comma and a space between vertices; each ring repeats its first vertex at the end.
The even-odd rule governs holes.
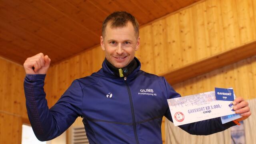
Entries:
POLYGON ((105 58, 105 61, 106 61, 106 64, 107 64, 108 68, 110 68, 110 70, 112 70, 112 72, 114 72, 114 74, 116 76, 119 76, 119 77, 128 76, 129 74, 131 74, 138 67, 138 64, 137 64, 135 59, 133 59, 130 62, 130 64, 128 64, 124 68, 116 68, 110 62, 108 62, 108 60, 106 58, 105 58))

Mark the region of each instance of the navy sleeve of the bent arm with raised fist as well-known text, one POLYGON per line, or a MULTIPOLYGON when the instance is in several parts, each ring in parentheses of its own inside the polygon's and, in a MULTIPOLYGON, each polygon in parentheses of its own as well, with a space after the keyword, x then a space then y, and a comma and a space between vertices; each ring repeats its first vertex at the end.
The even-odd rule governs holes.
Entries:
POLYGON ((82 88, 78 80, 64 92, 58 102, 48 108, 44 92, 45 74, 26 75, 24 92, 32 129, 40 141, 62 134, 81 115, 82 88))

